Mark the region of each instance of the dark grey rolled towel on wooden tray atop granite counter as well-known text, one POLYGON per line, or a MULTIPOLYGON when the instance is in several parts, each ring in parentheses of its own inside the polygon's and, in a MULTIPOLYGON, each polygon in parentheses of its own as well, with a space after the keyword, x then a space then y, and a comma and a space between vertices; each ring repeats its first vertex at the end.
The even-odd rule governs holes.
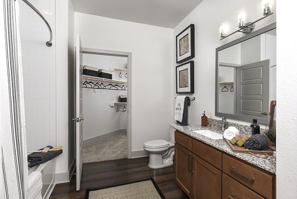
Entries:
POLYGON ((267 150, 268 141, 264 135, 254 134, 246 140, 245 147, 249 150, 267 150))

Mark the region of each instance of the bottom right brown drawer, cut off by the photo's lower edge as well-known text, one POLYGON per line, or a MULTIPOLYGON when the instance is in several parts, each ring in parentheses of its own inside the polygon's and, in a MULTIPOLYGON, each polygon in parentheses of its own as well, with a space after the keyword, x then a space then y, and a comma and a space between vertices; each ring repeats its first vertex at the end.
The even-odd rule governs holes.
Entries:
POLYGON ((236 180, 223 174, 223 197, 222 199, 265 199, 255 192, 240 184, 236 180))

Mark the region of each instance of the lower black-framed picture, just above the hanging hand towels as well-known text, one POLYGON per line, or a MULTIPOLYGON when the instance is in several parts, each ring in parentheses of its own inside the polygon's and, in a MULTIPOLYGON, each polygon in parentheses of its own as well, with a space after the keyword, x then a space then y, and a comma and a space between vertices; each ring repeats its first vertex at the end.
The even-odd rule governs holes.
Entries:
POLYGON ((194 61, 176 66, 176 93, 194 93, 194 61))

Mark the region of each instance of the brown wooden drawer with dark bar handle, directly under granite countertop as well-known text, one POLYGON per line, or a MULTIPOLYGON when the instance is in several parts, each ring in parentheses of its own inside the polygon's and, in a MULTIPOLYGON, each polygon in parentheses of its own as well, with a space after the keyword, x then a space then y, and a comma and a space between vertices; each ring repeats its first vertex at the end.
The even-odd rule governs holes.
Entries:
POLYGON ((225 154, 223 154, 223 172, 265 198, 273 198, 273 175, 225 154))

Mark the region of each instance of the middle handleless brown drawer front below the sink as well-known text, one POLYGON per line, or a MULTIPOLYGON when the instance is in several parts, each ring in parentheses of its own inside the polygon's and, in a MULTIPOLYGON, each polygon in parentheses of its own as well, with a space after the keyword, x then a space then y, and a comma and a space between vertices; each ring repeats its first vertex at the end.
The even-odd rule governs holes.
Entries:
POLYGON ((222 153, 220 151, 193 139, 193 153, 222 170, 222 153))

